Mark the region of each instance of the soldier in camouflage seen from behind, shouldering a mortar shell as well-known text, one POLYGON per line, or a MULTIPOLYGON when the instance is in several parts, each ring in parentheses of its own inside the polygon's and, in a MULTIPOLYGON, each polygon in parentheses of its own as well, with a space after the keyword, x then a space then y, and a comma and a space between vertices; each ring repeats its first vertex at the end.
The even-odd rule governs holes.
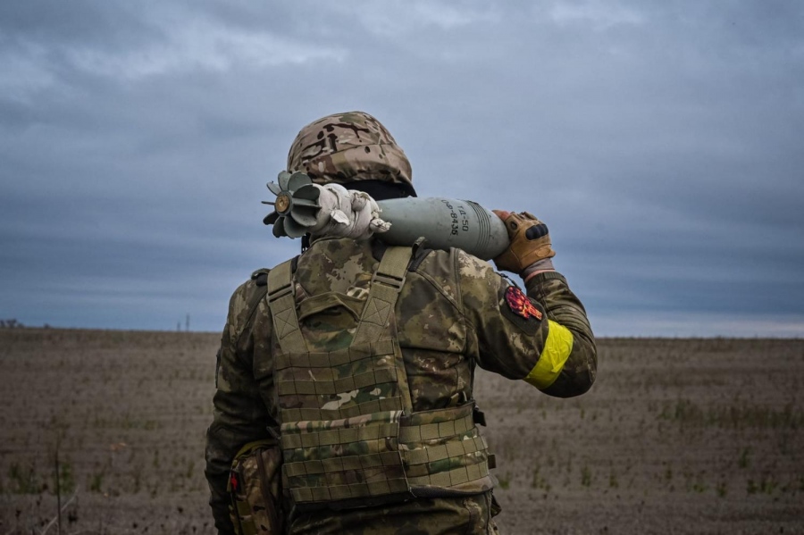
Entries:
MULTIPOLYGON (((415 196, 405 154, 367 113, 306 126, 288 170, 377 200, 415 196)), ((546 225, 528 213, 498 216, 511 245, 495 263, 522 276, 526 294, 460 249, 315 236, 235 291, 206 445, 221 533, 496 532, 475 365, 555 397, 586 392, 597 366, 546 225), (248 464, 258 484, 230 472, 249 443, 267 452, 248 464), (236 500, 233 526, 230 492, 246 487, 263 501, 249 509, 236 500), (268 520, 254 520, 260 514, 268 520)))

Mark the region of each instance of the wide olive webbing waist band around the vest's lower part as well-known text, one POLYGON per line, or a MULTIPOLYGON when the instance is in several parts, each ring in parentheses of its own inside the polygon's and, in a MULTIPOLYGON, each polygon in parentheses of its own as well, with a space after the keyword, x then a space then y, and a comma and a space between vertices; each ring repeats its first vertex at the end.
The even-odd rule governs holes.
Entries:
POLYGON ((291 496, 297 503, 314 503, 416 495, 424 489, 442 489, 442 496, 450 488, 490 489, 488 446, 474 427, 472 409, 470 403, 429 411, 424 419, 419 414, 400 419, 395 411, 283 427, 291 496), (415 424, 431 420, 442 421, 415 424), (390 449, 394 444, 400 447, 390 449))

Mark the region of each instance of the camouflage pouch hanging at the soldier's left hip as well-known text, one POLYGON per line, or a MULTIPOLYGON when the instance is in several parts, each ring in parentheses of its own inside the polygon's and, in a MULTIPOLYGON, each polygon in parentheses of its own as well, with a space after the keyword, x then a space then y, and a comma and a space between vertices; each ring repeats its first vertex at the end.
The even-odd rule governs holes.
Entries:
POLYGON ((239 535, 279 535, 282 453, 276 439, 256 440, 240 448, 232 461, 227 490, 229 514, 239 535))

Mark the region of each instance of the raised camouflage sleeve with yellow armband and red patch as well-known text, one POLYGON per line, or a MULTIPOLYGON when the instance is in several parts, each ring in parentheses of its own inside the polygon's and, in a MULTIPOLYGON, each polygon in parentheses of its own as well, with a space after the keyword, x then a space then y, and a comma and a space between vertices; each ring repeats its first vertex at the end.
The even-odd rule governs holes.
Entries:
POLYGON ((586 311, 563 276, 540 273, 527 294, 456 251, 461 307, 478 364, 555 397, 579 396, 595 380, 597 351, 586 311))

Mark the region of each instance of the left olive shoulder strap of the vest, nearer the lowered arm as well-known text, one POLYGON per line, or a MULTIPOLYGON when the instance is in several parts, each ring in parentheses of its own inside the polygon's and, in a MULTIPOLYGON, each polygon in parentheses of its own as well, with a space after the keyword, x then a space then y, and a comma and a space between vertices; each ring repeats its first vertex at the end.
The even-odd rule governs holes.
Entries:
POLYGON ((283 262, 268 273, 268 307, 271 309, 273 332, 282 353, 306 352, 307 345, 298 328, 296 299, 290 271, 292 260, 283 262))

